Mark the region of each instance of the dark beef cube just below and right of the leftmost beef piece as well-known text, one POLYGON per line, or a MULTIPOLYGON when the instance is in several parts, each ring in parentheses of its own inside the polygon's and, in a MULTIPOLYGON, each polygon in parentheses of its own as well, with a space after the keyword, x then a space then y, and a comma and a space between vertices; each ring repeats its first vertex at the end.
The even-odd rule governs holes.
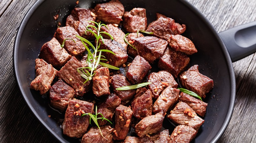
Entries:
POLYGON ((75 97, 75 90, 61 79, 50 88, 50 104, 61 112, 68 107, 69 101, 75 97))

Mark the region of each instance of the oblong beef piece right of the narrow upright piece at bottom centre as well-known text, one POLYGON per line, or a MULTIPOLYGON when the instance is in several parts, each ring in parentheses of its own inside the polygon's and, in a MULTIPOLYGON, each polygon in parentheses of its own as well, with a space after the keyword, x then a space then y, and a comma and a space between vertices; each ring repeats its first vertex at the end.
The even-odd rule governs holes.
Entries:
POLYGON ((135 133, 142 137, 147 134, 160 132, 163 124, 164 116, 161 113, 143 118, 135 126, 135 133))

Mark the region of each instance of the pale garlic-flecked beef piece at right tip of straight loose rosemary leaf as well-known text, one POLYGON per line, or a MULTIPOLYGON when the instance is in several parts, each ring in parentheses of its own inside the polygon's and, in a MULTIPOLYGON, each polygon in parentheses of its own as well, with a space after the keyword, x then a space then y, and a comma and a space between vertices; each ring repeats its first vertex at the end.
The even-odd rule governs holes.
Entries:
POLYGON ((168 71, 159 71, 159 72, 152 72, 148 76, 148 82, 151 82, 148 85, 149 89, 153 94, 153 98, 157 99, 159 94, 167 87, 171 86, 173 88, 177 88, 178 84, 174 80, 171 73, 168 71))

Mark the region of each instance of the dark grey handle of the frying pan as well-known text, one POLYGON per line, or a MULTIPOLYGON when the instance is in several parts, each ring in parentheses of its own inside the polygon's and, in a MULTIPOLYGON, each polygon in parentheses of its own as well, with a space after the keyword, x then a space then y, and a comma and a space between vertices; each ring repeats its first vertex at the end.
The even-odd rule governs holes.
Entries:
POLYGON ((232 62, 256 52, 256 21, 220 32, 232 62))

